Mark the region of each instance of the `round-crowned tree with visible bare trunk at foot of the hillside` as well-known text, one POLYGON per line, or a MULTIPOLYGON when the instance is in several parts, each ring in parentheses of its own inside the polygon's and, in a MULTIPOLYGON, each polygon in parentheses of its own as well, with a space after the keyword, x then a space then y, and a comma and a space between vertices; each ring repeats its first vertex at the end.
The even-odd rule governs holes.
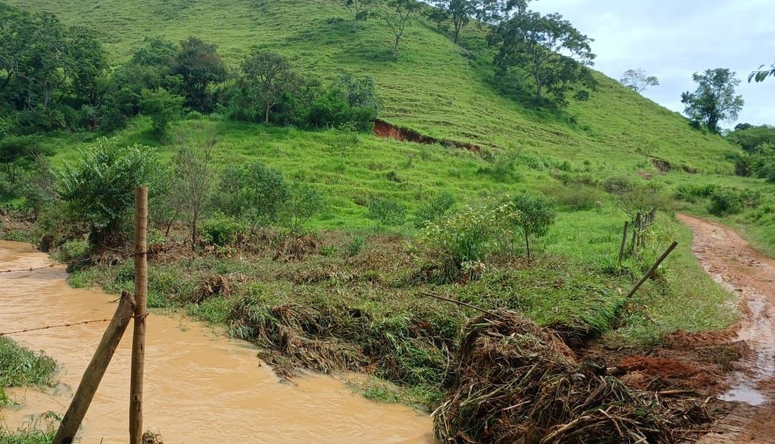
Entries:
POLYGON ((269 112, 282 96, 298 89, 301 77, 291 71, 288 59, 278 53, 253 50, 242 63, 240 94, 248 102, 263 108, 263 122, 269 124, 269 112))

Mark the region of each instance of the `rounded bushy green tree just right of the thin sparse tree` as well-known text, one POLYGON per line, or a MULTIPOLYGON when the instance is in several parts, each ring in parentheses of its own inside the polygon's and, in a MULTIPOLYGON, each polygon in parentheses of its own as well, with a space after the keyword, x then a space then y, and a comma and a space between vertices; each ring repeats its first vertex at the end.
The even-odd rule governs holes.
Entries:
POLYGON ((253 227, 277 222, 291 198, 283 174, 258 160, 226 167, 219 191, 219 208, 236 219, 247 219, 253 227))

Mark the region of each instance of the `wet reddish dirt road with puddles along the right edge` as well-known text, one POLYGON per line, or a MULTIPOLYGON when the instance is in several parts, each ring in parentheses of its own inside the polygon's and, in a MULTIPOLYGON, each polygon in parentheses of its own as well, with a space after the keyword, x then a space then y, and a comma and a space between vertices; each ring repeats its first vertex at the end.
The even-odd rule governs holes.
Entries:
POLYGON ((708 274, 739 294, 746 315, 739 339, 750 350, 722 396, 741 404, 700 442, 775 444, 775 260, 725 225, 687 215, 678 219, 694 232, 692 250, 708 274))

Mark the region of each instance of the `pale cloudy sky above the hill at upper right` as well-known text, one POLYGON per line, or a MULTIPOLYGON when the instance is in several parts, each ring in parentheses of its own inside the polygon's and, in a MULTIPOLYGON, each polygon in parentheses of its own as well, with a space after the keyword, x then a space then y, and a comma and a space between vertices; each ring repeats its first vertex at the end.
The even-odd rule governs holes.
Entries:
POLYGON ((560 12, 592 37, 598 71, 618 79, 642 68, 659 77, 644 95, 667 108, 683 112, 680 93, 694 91, 692 73, 725 67, 742 81, 738 122, 775 125, 775 78, 748 83, 751 71, 775 62, 775 0, 538 0, 531 7, 560 12))

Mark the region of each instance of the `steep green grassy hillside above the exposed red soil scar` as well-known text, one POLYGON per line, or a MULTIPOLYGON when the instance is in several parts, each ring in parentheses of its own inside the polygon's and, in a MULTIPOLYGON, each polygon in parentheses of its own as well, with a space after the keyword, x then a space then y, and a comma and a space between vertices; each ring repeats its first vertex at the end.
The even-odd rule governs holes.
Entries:
POLYGON ((11 3, 98 29, 116 63, 129 58, 143 36, 195 35, 218 43, 230 64, 250 46, 263 46, 292 57, 299 71, 324 79, 345 71, 368 74, 384 99, 384 119, 430 136, 611 168, 642 168, 653 156, 708 173, 732 170, 723 160, 729 145, 721 138, 691 131, 677 113, 602 75, 599 91, 571 105, 566 115, 525 109, 491 85, 491 53, 474 26, 465 30, 463 50, 432 24, 414 19, 394 61, 383 23, 370 20, 353 34, 346 11, 334 0, 11 3))

